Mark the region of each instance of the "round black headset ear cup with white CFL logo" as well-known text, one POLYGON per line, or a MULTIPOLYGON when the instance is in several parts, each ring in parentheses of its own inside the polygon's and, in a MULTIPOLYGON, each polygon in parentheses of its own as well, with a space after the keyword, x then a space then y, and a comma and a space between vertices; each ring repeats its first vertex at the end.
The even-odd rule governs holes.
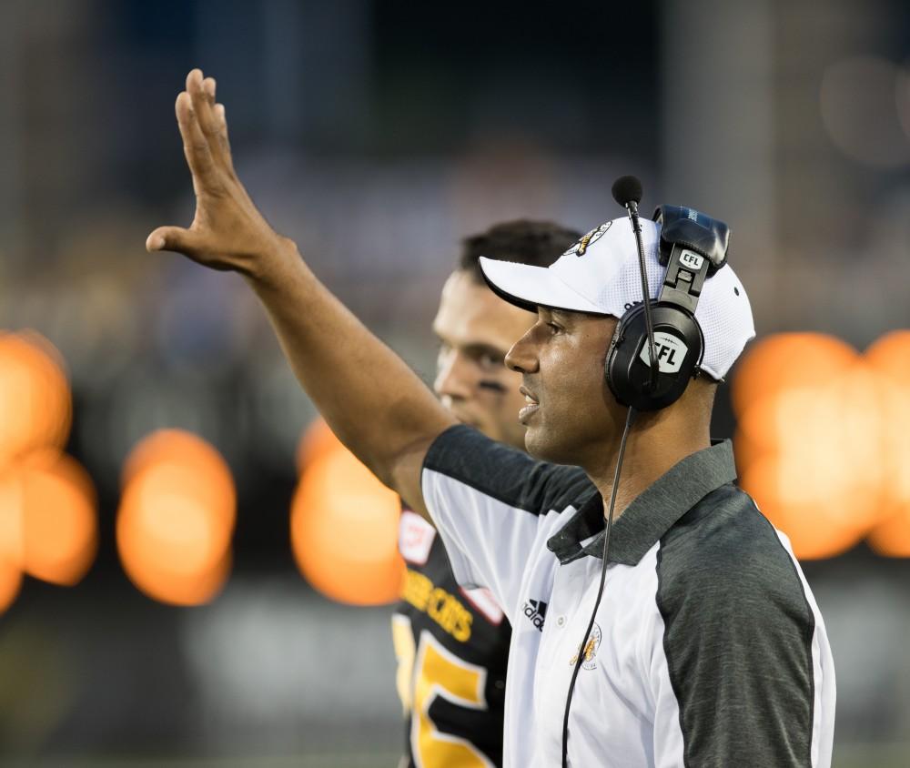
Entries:
POLYGON ((682 396, 702 362, 704 337, 693 315, 673 304, 652 301, 658 355, 657 386, 652 390, 644 305, 626 312, 613 332, 604 374, 614 398, 636 410, 659 410, 682 396))

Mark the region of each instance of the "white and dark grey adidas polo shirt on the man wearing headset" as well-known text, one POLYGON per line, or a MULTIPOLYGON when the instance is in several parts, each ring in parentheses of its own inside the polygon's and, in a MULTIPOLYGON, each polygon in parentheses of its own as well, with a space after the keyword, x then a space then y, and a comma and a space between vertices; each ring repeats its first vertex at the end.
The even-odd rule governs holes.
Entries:
POLYGON ((786 538, 733 485, 733 450, 701 450, 614 521, 581 470, 469 427, 446 430, 423 494, 452 570, 512 624, 506 766, 828 766, 834 662, 786 538))

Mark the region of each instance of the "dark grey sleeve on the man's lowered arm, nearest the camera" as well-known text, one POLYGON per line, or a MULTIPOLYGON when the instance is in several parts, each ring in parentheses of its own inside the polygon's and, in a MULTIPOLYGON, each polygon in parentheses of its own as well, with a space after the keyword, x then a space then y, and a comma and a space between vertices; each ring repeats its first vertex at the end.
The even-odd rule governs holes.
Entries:
POLYGON ((753 501, 705 497, 662 539, 657 575, 686 768, 811 766, 814 614, 753 501))

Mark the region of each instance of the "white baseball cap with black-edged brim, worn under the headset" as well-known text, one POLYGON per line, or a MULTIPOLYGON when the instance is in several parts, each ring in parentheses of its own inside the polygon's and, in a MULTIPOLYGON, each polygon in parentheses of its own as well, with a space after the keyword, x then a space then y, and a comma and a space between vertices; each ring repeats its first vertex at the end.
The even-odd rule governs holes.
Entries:
MULTIPOLYGON (((657 298, 666 271, 658 260, 660 225, 641 221, 648 290, 657 298)), ((622 318, 642 301, 638 247, 628 217, 591 229, 550 267, 481 256, 480 268, 490 288, 532 312, 550 307, 622 318)), ((723 379, 746 342, 755 337, 749 297, 729 264, 704 281, 695 318, 704 334, 702 370, 723 379)))

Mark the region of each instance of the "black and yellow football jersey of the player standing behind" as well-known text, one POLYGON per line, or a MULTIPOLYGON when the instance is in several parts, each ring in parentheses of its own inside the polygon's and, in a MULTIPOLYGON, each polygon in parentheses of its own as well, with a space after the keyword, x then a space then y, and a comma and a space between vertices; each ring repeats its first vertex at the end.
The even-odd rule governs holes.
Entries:
POLYGON ((509 622, 489 591, 458 585, 436 530, 410 510, 399 549, 408 567, 392 616, 401 766, 499 768, 509 622))

